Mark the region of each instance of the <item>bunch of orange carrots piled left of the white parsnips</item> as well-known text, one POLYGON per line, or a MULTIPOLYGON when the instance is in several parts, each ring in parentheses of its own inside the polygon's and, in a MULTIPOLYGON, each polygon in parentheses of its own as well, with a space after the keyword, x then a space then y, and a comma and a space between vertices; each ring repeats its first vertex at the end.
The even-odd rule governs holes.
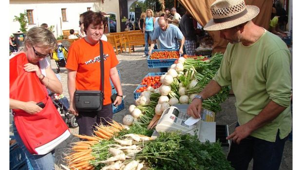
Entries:
POLYGON ((72 143, 72 152, 65 156, 68 167, 61 166, 66 170, 94 170, 94 166, 90 164, 90 161, 95 159, 92 154, 94 145, 97 145, 100 141, 111 139, 114 133, 125 129, 122 124, 114 120, 113 123, 108 123, 110 126, 95 126, 96 131, 94 131, 95 135, 93 136, 75 134, 75 136, 85 141, 72 143))

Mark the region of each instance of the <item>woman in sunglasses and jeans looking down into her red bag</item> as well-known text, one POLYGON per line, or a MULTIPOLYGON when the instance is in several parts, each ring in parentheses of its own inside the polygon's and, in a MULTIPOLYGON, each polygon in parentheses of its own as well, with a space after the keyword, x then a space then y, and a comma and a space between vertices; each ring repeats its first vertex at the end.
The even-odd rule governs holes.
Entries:
MULTIPOLYGON (((29 63, 20 65, 20 67, 24 67, 26 72, 35 73, 46 88, 57 94, 62 94, 62 84, 50 68, 49 62, 45 59, 45 57, 49 56, 50 53, 57 48, 57 40, 54 34, 43 27, 33 27, 26 33, 24 45, 23 50, 17 54, 13 54, 14 56, 20 53, 26 55, 29 63)), ((36 102, 24 102, 11 98, 9 99, 9 108, 21 109, 28 114, 36 114, 42 110, 36 102)), ((26 158, 29 159, 34 170, 55 170, 55 149, 45 155, 31 154, 23 144, 15 123, 13 123, 13 129, 19 147, 25 153, 26 158)))

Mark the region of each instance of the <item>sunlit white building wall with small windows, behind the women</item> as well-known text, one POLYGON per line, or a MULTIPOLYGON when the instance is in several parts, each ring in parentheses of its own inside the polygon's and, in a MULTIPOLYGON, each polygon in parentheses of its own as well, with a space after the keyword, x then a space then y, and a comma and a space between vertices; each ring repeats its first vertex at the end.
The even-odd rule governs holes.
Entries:
POLYGON ((91 7, 91 10, 93 11, 103 11, 105 13, 116 14, 116 27, 117 31, 120 31, 118 0, 105 0, 105 3, 103 4, 100 2, 63 2, 64 0, 60 0, 60 2, 58 1, 57 3, 55 3, 54 1, 50 2, 49 0, 28 0, 26 2, 24 2, 24 0, 10 0, 10 32, 15 33, 19 31, 20 24, 18 21, 13 21, 14 16, 16 15, 19 17, 19 13, 23 13, 24 10, 27 9, 33 10, 35 23, 32 25, 28 25, 28 29, 34 26, 40 26, 42 23, 47 23, 48 27, 50 27, 51 25, 55 26, 54 35, 56 37, 62 35, 61 30, 74 29, 75 31, 79 31, 79 15, 87 11, 87 7, 91 7), (66 8, 67 21, 61 21, 61 8, 66 8))

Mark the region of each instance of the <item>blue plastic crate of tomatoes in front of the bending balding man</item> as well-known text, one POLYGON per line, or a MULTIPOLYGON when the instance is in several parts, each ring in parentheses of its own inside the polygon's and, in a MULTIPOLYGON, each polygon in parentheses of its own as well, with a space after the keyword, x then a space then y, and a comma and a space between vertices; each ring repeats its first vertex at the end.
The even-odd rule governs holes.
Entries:
MULTIPOLYGON (((172 50, 168 50, 168 49, 161 49, 161 50, 152 50, 152 53, 155 51, 179 51, 179 49, 172 49, 172 50)), ((151 55, 152 55, 151 53, 151 55)), ((150 56, 148 56, 147 58, 147 62, 148 62, 148 68, 161 68, 161 67, 170 67, 174 61, 176 60, 176 58, 171 58, 171 59, 150 59, 150 56)))

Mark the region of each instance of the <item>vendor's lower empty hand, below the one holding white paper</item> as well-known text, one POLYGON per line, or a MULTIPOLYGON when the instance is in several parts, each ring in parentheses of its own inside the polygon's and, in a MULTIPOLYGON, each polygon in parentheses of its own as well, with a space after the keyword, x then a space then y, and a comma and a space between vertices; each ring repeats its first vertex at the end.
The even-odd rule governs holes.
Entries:
POLYGON ((227 136, 227 140, 233 139, 233 142, 240 144, 240 141, 250 135, 251 132, 252 130, 244 124, 235 128, 235 131, 227 136))

